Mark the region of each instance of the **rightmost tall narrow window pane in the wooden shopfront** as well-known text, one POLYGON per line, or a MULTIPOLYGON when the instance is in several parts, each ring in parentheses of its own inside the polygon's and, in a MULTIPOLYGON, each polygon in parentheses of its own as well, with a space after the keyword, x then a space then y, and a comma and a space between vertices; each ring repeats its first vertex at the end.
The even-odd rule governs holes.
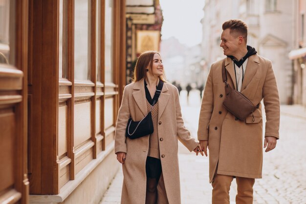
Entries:
POLYGON ((105 82, 112 82, 113 0, 105 0, 105 82))

